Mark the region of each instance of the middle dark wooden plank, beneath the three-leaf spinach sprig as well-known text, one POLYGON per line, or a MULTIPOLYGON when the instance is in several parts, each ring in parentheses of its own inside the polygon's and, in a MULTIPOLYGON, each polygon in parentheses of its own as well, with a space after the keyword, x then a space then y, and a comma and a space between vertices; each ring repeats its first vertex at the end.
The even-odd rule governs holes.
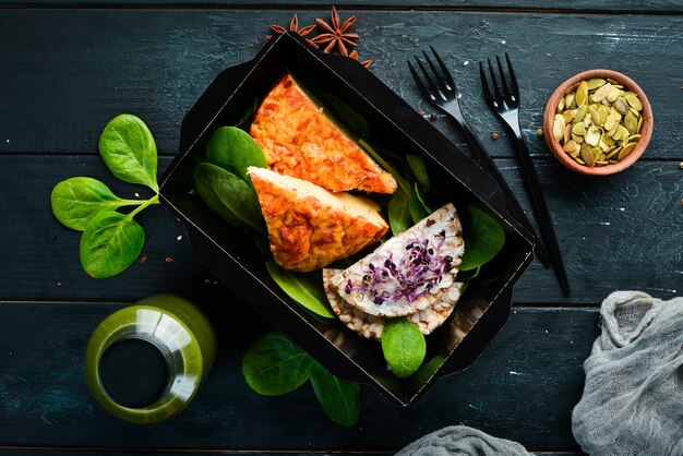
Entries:
MULTIPOLYGON (((161 160, 161 169, 168 161, 161 160)), ((517 163, 500 159, 499 165, 524 197, 517 163)), ((681 292, 683 170, 678 161, 642 161, 609 179, 579 177, 551 159, 537 160, 537 168, 574 293, 564 298, 552 272, 535 262, 515 289, 515 302, 596 304, 614 289, 637 288, 660 298, 681 292)), ((172 288, 212 301, 232 299, 194 259, 182 225, 159 206, 140 216, 147 233, 144 264, 107 280, 87 277, 79 264, 80 235, 59 225, 49 206, 52 187, 72 176, 98 178, 121 197, 145 194, 118 182, 99 157, 0 156, 2 298, 132 301, 172 288)))

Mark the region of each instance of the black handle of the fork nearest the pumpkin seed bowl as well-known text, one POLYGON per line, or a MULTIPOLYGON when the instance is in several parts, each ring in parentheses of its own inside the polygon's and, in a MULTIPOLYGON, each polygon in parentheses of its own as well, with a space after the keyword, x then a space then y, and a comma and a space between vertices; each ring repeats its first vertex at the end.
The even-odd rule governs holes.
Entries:
POLYGON ((527 185, 527 192, 531 197, 531 203, 534 204, 536 221, 540 227, 543 241, 550 250, 550 255, 553 259, 552 264, 555 269, 555 275, 558 276, 558 279, 560 281, 560 286, 562 287, 562 291, 564 292, 564 296, 568 297, 572 295, 572 290, 570 289, 570 281, 566 277, 564 262, 562 261, 562 253, 560 252, 560 247, 558 245, 558 238, 555 236, 555 230, 552 226, 550 212, 548 211, 548 205, 546 204, 546 197, 543 196, 543 191, 541 189, 538 173, 536 172, 536 167, 534 166, 529 149, 522 136, 515 134, 515 139, 517 155, 519 156, 519 161, 522 161, 522 172, 524 175, 524 181, 527 185))

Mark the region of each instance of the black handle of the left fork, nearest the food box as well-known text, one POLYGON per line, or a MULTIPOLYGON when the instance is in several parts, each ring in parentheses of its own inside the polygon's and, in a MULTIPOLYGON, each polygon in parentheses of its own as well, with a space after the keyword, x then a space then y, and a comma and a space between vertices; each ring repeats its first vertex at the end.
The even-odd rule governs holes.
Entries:
POLYGON ((515 217, 517 221, 519 221, 536 239, 535 247, 534 247, 534 250, 536 251, 536 255, 547 267, 550 267, 551 262, 550 262, 550 255, 548 254, 548 251, 546 250, 543 244, 538 241, 538 236, 536 235, 536 231, 534 230, 534 226, 531 225, 529 217, 527 217, 527 215, 524 213, 524 209, 519 205, 519 202, 515 197, 515 194, 513 193, 512 189, 510 188, 505 179, 503 179, 503 176, 501 175, 501 171, 498 169, 498 166, 495 166, 495 163, 493 161, 491 156, 489 156, 489 154, 483 148, 481 141, 479 141, 479 137, 477 137, 477 135, 469 129, 467 123, 460 124, 459 122, 455 120, 454 122, 458 127, 460 127, 460 130, 465 134, 465 140, 467 141, 469 148, 475 154, 475 157, 477 158, 477 163, 479 163, 479 165, 489 175, 491 175, 491 177, 498 182, 499 187, 501 188, 501 192, 503 193, 503 199, 505 200, 505 205, 507 206, 507 211, 510 211, 511 215, 515 217))

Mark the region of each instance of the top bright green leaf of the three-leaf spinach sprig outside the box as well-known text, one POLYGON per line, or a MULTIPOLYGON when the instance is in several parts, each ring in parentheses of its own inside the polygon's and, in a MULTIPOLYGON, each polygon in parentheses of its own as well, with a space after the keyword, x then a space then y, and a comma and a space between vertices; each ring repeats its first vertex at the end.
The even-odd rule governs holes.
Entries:
POLYGON ((145 122, 132 115, 115 117, 99 136, 99 155, 122 181, 159 191, 156 182, 156 144, 145 122))

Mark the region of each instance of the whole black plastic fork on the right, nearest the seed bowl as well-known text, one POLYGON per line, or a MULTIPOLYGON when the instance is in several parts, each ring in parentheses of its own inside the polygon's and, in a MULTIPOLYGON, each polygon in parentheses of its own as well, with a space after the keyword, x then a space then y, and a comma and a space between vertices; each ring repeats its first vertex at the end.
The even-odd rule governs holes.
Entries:
POLYGON ((529 149, 527 148, 527 145, 522 136, 522 128, 519 127, 519 86, 517 85, 515 70, 510 61, 510 56, 505 52, 507 73, 510 75, 508 86, 505 77, 505 71, 503 70, 503 64, 501 63, 501 58, 495 56, 495 60, 498 62, 499 77, 501 82, 500 86, 495 80, 495 72, 493 70, 491 59, 488 59, 491 84, 487 81, 487 73, 483 69, 483 63, 479 62, 479 74, 481 76, 483 96, 487 99, 489 107, 498 115, 498 117, 505 124, 505 128, 515 137, 515 148, 517 149, 517 155, 519 156, 519 161, 522 163, 522 172, 524 175, 527 192, 531 197, 536 221, 540 227, 543 241, 550 251, 552 265, 555 269, 555 275, 558 276, 562 291, 564 292, 564 296, 568 297, 572 291, 570 289, 570 281, 567 280, 566 272, 564 269, 564 263, 562 262, 562 254, 560 252, 560 247, 558 245, 555 230, 550 219, 550 212, 548 211, 548 205, 546 204, 546 197, 543 196, 541 184, 538 179, 538 175, 536 173, 536 168, 534 167, 534 161, 531 160, 529 149))

